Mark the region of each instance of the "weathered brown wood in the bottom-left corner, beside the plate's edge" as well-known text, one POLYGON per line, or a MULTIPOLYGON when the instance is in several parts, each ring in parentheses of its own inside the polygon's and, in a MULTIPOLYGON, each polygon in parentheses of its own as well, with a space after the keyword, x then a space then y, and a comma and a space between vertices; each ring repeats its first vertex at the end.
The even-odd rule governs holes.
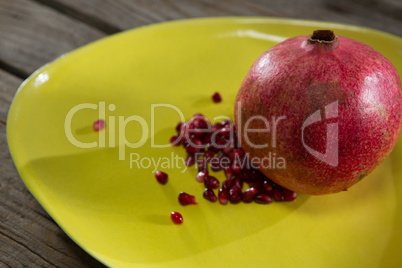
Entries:
POLYGON ((47 215, 20 179, 0 124, 0 267, 105 267, 47 215))

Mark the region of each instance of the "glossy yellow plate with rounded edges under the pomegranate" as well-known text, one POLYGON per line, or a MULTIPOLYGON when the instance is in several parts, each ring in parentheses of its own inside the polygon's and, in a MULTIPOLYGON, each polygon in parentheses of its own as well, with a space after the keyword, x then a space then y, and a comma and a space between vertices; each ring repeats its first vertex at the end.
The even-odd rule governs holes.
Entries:
POLYGON ((347 192, 269 206, 209 203, 195 169, 182 172, 182 148, 153 148, 174 134, 181 119, 175 107, 186 119, 196 112, 232 117, 257 56, 319 28, 371 45, 402 73, 400 38, 354 26, 214 18, 135 29, 71 52, 24 82, 7 122, 18 171, 61 228, 109 266, 396 267, 400 143, 347 192), (215 91, 220 104, 210 99, 215 91), (98 135, 92 123, 99 117, 107 128, 98 135), (153 176, 158 160, 169 174, 165 186, 153 176), (180 191, 199 205, 180 206, 180 191), (172 224, 171 211, 182 213, 182 225, 172 224))

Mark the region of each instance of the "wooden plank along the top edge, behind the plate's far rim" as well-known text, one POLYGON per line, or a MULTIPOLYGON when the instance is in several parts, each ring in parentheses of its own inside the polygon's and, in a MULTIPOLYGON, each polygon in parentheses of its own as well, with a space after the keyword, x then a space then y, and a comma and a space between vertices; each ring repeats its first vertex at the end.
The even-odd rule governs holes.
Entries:
POLYGON ((57 2, 115 28, 130 29, 173 19, 210 16, 277 16, 326 20, 370 27, 402 36, 401 7, 396 0, 37 0, 57 2), (398 6, 399 5, 399 6, 398 6))

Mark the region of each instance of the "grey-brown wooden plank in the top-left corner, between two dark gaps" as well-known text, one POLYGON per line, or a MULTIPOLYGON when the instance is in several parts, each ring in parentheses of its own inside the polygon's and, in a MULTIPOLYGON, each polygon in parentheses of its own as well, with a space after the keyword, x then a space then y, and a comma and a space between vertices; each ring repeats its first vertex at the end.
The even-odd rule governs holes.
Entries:
POLYGON ((0 2, 0 62, 20 70, 20 76, 26 77, 56 57, 103 36, 101 31, 41 4, 0 2))

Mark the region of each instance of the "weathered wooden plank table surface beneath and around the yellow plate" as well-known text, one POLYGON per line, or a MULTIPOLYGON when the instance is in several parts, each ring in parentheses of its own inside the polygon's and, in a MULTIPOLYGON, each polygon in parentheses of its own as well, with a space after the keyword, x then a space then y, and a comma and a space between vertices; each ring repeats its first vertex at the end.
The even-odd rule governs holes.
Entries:
POLYGON ((7 112, 35 69, 79 46, 156 22, 211 16, 336 21, 402 36, 400 0, 0 0, 0 267, 104 267, 43 210, 7 147, 7 112))

